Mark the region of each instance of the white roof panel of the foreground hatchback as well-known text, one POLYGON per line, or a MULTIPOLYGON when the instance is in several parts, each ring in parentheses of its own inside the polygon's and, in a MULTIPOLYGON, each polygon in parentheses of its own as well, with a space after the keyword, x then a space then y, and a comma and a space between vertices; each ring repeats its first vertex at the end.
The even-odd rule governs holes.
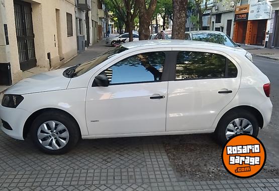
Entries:
POLYGON ((217 43, 209 43, 203 41, 189 41, 189 40, 144 40, 144 41, 133 41, 129 43, 124 43, 122 46, 127 49, 133 49, 137 47, 144 47, 144 46, 162 46, 162 47, 175 47, 175 45, 185 45, 185 47, 193 47, 193 48, 200 48, 200 47, 216 47, 216 48, 226 48, 235 50, 234 47, 227 47, 225 45, 217 44, 217 43), (168 45, 168 46, 166 46, 168 45))

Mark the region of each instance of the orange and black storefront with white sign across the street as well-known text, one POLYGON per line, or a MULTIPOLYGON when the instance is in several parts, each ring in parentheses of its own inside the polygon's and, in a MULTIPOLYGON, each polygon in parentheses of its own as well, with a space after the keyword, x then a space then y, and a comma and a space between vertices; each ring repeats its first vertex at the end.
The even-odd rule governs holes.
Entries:
POLYGON ((233 40, 246 45, 268 46, 272 8, 266 0, 244 1, 235 9, 233 40), (247 4, 248 3, 248 4, 247 4))

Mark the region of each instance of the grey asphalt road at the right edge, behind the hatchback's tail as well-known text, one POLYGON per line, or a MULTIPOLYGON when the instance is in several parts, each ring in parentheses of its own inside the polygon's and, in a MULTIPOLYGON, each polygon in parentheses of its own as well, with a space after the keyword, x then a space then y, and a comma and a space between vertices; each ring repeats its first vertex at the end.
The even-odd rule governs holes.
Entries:
POLYGON ((269 78, 271 82, 271 102, 273 104, 272 116, 269 125, 259 131, 267 159, 279 166, 279 62, 261 57, 253 57, 253 63, 269 78))

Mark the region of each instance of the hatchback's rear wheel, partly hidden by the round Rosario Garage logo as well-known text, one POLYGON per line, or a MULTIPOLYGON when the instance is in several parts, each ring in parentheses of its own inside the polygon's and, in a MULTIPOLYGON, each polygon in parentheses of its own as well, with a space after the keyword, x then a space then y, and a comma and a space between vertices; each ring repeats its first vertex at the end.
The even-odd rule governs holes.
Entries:
POLYGON ((225 144, 234 135, 246 133, 257 136, 258 131, 258 121, 252 113, 246 110, 234 110, 221 118, 215 135, 221 144, 225 144))

